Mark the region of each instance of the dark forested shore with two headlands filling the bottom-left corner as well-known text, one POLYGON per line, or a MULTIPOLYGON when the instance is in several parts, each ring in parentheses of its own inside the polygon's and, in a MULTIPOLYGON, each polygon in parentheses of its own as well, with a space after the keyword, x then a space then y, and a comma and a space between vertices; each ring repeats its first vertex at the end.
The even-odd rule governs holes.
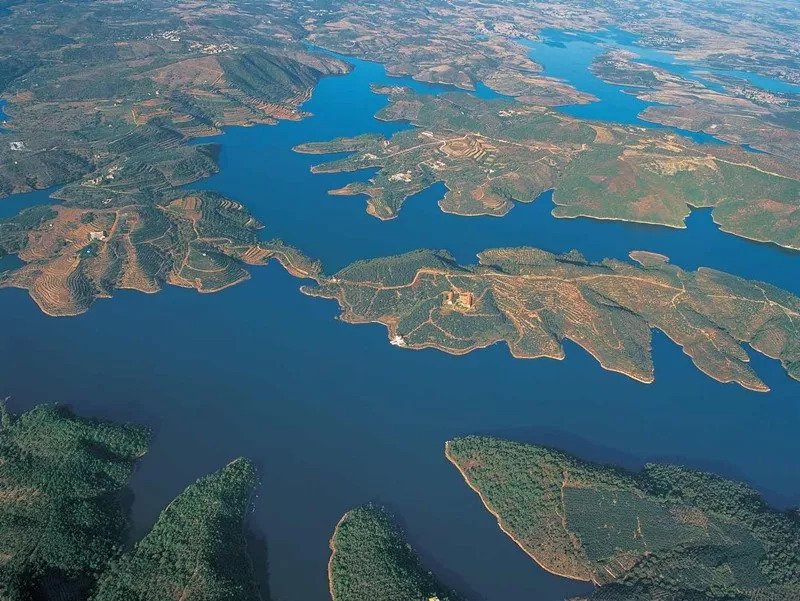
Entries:
POLYGON ((0 600, 258 601, 245 518, 257 485, 237 459, 174 499, 123 553, 141 426, 0 405, 0 600))

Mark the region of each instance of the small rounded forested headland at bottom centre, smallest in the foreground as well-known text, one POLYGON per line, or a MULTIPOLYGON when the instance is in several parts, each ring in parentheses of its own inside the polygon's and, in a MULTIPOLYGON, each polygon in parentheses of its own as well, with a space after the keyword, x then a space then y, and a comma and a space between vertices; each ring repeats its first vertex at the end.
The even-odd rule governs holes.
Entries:
POLYGON ((420 563, 392 519, 368 505, 347 512, 331 539, 333 601, 457 601, 420 563))

